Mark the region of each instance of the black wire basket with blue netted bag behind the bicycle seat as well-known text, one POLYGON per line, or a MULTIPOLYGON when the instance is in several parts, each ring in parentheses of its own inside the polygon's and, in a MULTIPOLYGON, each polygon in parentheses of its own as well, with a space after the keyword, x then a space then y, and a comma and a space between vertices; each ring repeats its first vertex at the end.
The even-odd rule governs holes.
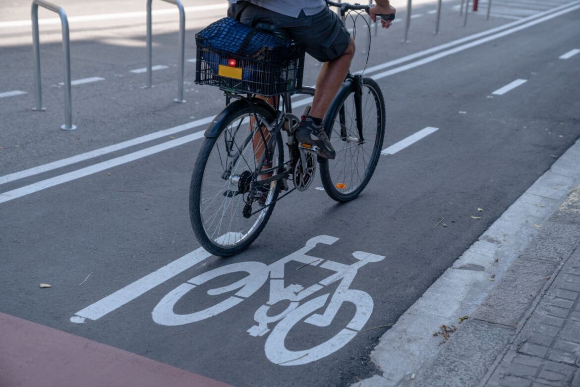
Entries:
POLYGON ((195 83, 262 96, 302 88, 302 45, 226 17, 195 35, 195 83))

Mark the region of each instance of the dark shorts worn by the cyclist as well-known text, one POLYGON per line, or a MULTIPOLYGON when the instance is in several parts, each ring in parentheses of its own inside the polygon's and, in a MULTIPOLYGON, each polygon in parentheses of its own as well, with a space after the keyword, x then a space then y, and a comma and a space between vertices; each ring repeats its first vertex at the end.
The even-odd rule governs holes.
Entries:
POLYGON ((252 27, 261 21, 283 28, 294 41, 305 44, 306 52, 321 62, 338 58, 346 52, 350 43, 349 31, 328 7, 311 16, 300 12, 298 18, 295 18, 247 1, 238 1, 230 5, 227 16, 252 27))

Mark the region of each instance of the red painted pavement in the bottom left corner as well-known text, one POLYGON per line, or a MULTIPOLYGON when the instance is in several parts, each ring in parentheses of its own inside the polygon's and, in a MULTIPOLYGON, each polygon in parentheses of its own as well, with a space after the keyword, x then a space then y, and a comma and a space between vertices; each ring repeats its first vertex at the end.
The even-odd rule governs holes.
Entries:
POLYGON ((0 387, 231 387, 0 313, 0 387))

